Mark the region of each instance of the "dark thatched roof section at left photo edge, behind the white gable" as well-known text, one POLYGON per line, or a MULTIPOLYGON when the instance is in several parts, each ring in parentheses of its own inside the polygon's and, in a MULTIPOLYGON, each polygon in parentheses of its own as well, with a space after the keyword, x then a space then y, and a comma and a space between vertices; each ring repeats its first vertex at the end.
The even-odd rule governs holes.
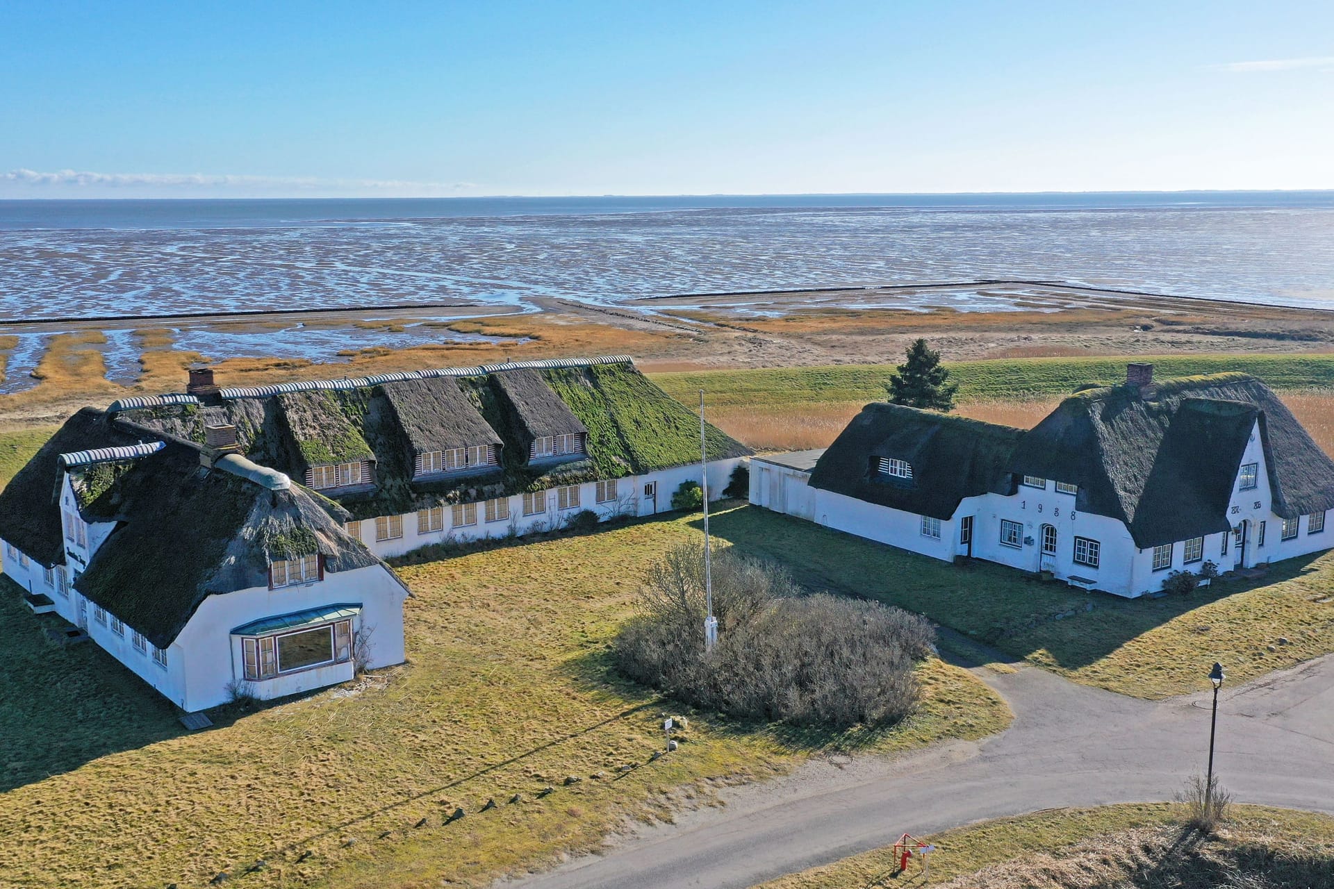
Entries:
POLYGON ((63 562, 60 454, 137 441, 108 424, 101 411, 84 408, 69 417, 0 492, 0 537, 47 568, 63 562))

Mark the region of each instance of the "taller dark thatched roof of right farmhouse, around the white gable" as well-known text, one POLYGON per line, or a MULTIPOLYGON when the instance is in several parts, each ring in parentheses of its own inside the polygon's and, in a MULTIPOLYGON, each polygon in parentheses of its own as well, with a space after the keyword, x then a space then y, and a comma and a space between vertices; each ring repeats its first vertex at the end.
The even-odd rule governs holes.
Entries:
POLYGON ((1259 423, 1277 514, 1334 508, 1334 461, 1259 380, 1218 373, 1079 392, 1025 435, 1009 469, 1079 485, 1082 512, 1126 522, 1139 548, 1226 530, 1259 423))

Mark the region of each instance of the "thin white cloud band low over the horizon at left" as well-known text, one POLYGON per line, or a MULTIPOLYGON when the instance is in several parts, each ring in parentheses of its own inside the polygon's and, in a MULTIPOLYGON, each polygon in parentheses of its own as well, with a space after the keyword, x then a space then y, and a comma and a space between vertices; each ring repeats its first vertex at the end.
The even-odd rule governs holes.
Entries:
POLYGON ((51 187, 128 187, 128 188, 236 188, 297 189, 297 191, 371 191, 371 192, 459 192, 478 188, 474 183, 414 183, 382 179, 315 179, 307 176, 228 176, 211 173, 95 173, 60 169, 39 172, 11 169, 0 173, 0 183, 15 185, 51 187))

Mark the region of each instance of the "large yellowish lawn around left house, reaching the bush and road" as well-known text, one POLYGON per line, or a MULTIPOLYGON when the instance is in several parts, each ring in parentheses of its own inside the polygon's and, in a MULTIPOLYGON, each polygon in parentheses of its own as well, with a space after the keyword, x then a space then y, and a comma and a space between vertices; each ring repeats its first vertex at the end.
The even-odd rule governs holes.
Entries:
POLYGON ((932 660, 919 669, 919 712, 894 729, 828 736, 691 714, 680 750, 650 762, 674 708, 618 682, 607 642, 630 613, 634 566, 696 538, 692 521, 404 568, 410 664, 223 710, 193 734, 95 646, 48 645, 40 626, 52 618, 33 617, 0 581, 11 629, 0 882, 199 886, 219 872, 244 886, 486 882, 594 846, 624 817, 707 805, 715 782, 782 772, 814 749, 899 750, 1009 722, 982 682, 932 660), (566 786, 567 776, 580 781, 566 786), (555 790, 538 798, 546 786, 555 790), (498 806, 483 812, 488 798, 498 806), (455 808, 467 814, 446 824, 455 808), (240 880, 257 860, 267 866, 240 880))

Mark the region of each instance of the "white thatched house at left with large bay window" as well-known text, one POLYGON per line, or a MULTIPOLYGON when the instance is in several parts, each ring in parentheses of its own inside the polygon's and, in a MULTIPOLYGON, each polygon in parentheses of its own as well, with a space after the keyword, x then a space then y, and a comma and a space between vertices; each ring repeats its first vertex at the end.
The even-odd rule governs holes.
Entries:
POLYGON ((403 661, 407 588, 347 513, 85 408, 0 493, 4 573, 185 712, 403 661))

